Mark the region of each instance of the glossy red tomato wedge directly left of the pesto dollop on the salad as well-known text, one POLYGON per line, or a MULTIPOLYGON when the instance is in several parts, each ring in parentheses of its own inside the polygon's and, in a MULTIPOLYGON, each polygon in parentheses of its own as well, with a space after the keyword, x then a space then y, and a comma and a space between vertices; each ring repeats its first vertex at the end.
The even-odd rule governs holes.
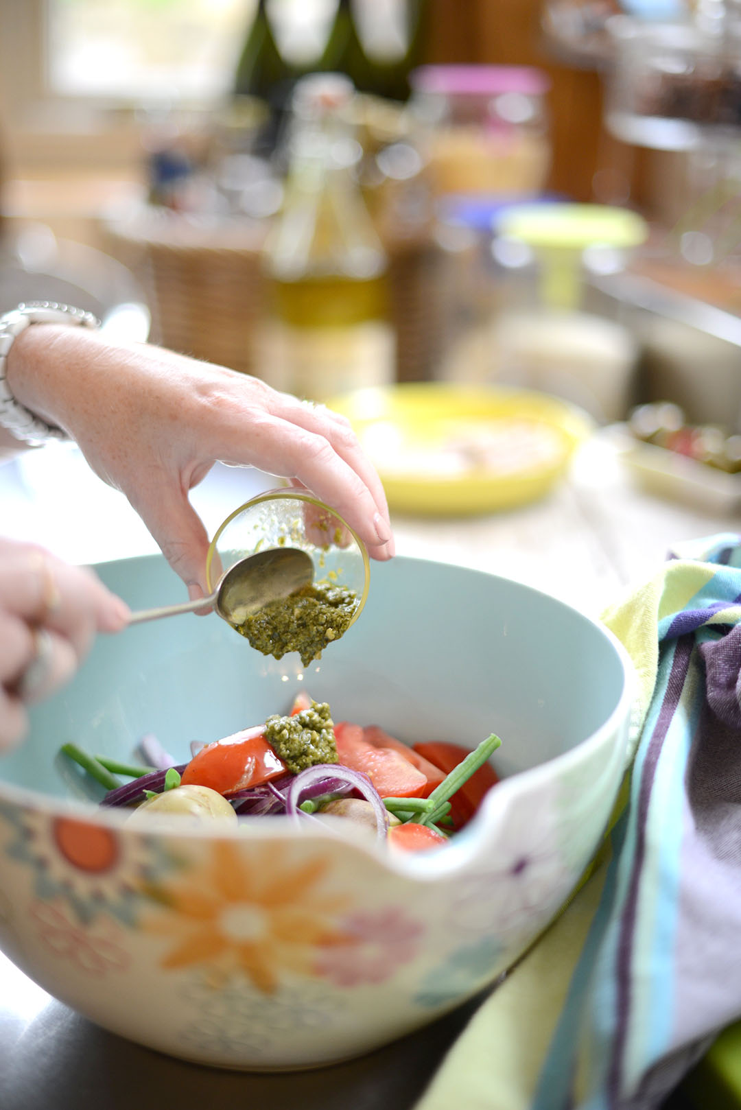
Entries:
POLYGON ((243 728, 233 736, 207 744, 182 773, 183 786, 210 786, 219 794, 236 794, 260 786, 288 770, 264 738, 264 726, 243 728))

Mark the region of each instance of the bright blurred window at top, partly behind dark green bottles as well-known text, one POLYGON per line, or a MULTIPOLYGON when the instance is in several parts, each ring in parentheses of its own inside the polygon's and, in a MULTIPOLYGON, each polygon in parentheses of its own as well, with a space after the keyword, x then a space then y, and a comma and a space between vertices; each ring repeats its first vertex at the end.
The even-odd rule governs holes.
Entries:
MULTIPOLYGON (((228 91, 257 0, 47 0, 46 73, 52 95, 203 100, 228 91)), ((283 53, 319 57, 337 0, 269 0, 283 53)), ((404 49, 400 0, 356 0, 371 53, 404 49)))

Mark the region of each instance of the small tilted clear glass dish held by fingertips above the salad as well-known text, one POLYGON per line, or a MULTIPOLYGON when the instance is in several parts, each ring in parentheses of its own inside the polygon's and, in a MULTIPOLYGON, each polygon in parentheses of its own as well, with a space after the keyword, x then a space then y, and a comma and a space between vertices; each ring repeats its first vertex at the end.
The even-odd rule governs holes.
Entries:
POLYGON ((236 508, 216 531, 206 557, 209 593, 239 559, 272 547, 298 547, 314 565, 316 585, 352 589, 358 604, 351 627, 362 613, 370 586, 364 543, 334 509, 300 490, 269 490, 236 508))

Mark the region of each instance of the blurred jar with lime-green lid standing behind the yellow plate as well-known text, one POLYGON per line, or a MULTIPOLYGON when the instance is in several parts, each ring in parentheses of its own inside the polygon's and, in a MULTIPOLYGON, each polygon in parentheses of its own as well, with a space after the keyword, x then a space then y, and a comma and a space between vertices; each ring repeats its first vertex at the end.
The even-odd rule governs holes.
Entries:
POLYGON ((554 393, 601 423, 623 420, 639 346, 588 304, 588 279, 624 269, 648 225, 627 209, 524 204, 495 221, 500 311, 491 342, 502 382, 554 393))

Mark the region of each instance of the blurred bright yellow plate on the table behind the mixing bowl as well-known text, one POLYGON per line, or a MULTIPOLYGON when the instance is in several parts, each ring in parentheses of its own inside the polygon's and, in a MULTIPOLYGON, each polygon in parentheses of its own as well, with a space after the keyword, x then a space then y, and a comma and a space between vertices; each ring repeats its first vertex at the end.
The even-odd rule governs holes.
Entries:
POLYGON ((352 423, 389 505, 420 516, 472 516, 544 496, 592 432, 558 397, 505 386, 422 382, 330 401, 352 423))

